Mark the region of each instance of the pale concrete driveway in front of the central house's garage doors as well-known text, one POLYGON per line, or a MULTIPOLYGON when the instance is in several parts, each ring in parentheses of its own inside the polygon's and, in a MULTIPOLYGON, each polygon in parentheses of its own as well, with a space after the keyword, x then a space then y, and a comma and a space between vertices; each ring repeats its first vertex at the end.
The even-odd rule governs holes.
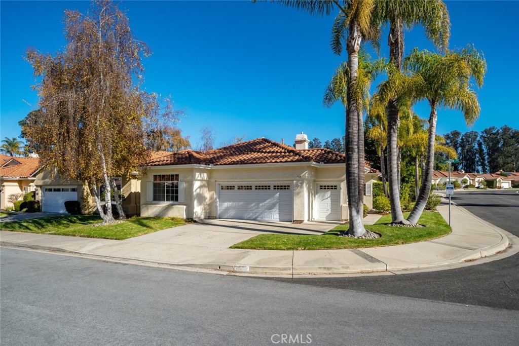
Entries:
POLYGON ((205 219, 134 237, 127 241, 228 248, 258 234, 322 234, 340 222, 264 222, 254 220, 205 219))

